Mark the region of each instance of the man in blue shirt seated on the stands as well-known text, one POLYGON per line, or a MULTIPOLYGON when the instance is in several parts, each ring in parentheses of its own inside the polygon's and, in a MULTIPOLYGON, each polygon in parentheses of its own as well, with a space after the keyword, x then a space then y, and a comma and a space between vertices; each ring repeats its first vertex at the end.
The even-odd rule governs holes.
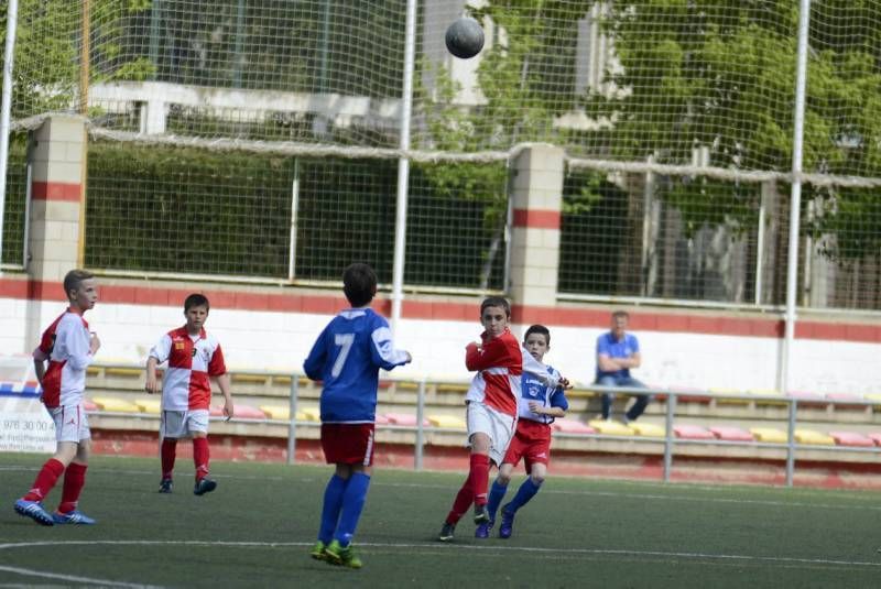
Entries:
MULTIPOLYGON (((597 338, 596 384, 603 386, 630 386, 644 389, 645 385, 630 375, 631 368, 639 368, 642 361, 640 342, 637 336, 627 332, 630 316, 627 312, 612 313, 611 330, 597 338)), ((633 422, 645 411, 651 395, 637 395, 637 402, 624 414, 623 422, 633 422)), ((610 419, 614 393, 602 393, 602 418, 610 419)))

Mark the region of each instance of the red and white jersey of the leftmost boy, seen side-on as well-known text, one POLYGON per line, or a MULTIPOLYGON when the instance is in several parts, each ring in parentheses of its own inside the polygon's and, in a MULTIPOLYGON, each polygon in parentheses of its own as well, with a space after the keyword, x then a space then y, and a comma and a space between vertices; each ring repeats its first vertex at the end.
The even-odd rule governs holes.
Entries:
POLYGON ((86 367, 94 360, 89 338, 89 324, 69 308, 43 331, 33 356, 34 360, 48 360, 43 374, 42 395, 46 407, 79 405, 83 402, 86 367))

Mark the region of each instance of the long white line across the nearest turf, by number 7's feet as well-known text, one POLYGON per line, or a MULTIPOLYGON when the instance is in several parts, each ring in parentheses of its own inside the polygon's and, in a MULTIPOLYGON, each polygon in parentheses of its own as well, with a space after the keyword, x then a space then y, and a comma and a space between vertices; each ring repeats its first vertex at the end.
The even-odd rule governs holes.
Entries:
MULTIPOLYGON (((307 547, 312 546, 313 542, 224 542, 224 541, 153 541, 153 539, 130 539, 130 541, 58 541, 58 542, 15 542, 0 544, 0 550, 8 550, 14 548, 37 548, 45 546, 221 546, 221 547, 258 547, 258 548, 290 548, 290 547, 307 547)), ((438 549, 444 550, 486 550, 498 553, 525 553, 525 554, 541 554, 541 555, 595 555, 595 556, 632 556, 632 557, 648 557, 648 558, 684 558, 694 560, 737 560, 737 561, 752 561, 752 563, 772 563, 781 565, 826 565, 826 566, 840 566, 840 567, 878 567, 881 568, 881 561, 868 563, 862 560, 836 560, 830 558, 796 558, 786 556, 753 556, 753 555, 736 555, 736 554, 709 554, 709 553, 677 553, 677 552, 663 552, 663 550, 624 550, 624 549, 609 549, 609 548, 542 548, 529 546, 476 546, 474 544, 438 544, 436 542, 425 542, 420 544, 406 543, 385 543, 385 542, 359 542, 359 547, 372 548, 405 548, 407 550, 418 550, 421 548, 428 548, 432 553, 438 549)), ((546 558, 546 556, 545 556, 546 558)), ((0 567, 7 569, 11 567, 0 567)), ((24 570, 24 569, 23 569, 24 570)), ((50 574, 45 574, 50 575, 50 574)), ((58 578, 63 576, 56 576, 58 578)), ((74 580, 74 578, 69 578, 74 580)), ((101 585, 112 585, 120 587, 143 587, 129 583, 118 583, 112 581, 98 581, 98 580, 83 580, 81 582, 99 582, 101 585)))

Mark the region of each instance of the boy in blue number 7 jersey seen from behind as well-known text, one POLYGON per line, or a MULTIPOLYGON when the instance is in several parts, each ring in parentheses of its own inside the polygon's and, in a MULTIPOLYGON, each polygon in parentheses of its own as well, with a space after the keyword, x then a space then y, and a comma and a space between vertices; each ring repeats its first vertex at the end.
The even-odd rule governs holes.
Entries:
POLYGON ((324 382, 322 449, 327 463, 336 465, 312 557, 361 568, 351 541, 370 487, 379 369, 391 370, 411 357, 394 348, 388 321, 370 308, 377 275, 369 265, 347 268, 342 291, 352 308, 334 317, 303 363, 309 379, 324 382))

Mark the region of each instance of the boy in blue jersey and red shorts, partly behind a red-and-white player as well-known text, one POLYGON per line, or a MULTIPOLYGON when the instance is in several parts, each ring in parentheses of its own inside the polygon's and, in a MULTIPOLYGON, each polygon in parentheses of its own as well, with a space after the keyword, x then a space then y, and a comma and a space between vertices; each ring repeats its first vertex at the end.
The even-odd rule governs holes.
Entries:
MULTIPOLYGON (((523 347, 541 362, 551 349, 551 331, 543 325, 531 326, 523 338, 523 347)), ((551 367, 546 368, 551 374, 559 378, 559 372, 551 367)), ((529 478, 520 486, 514 499, 502 506, 502 523, 499 526, 500 538, 511 537, 514 514, 535 497, 547 475, 547 463, 551 459, 551 423, 555 417, 565 417, 567 408, 569 403, 562 386, 547 385, 533 374, 523 373, 522 392, 518 402, 516 433, 508 446, 499 468, 499 476, 489 492, 487 503, 489 522, 477 526, 475 537, 489 537, 496 521, 496 512, 508 491, 508 483, 511 482, 511 472, 523 458, 529 478)))

